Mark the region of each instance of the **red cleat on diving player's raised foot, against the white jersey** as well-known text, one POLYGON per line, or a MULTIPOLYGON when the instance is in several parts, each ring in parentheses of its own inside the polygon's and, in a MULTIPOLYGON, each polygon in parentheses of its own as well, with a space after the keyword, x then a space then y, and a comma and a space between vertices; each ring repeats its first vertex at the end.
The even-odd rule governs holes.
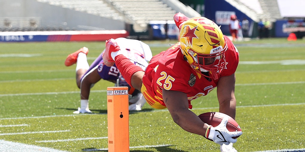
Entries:
POLYGON ((105 45, 106 49, 103 54, 104 64, 108 67, 111 67, 115 64, 114 58, 111 54, 113 53, 113 56, 115 57, 117 52, 120 50, 120 47, 114 39, 106 41, 105 45))

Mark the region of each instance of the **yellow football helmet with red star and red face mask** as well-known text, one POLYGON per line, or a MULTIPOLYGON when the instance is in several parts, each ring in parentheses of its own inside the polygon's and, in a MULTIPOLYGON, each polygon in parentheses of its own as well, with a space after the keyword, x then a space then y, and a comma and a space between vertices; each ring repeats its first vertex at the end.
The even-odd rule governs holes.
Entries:
POLYGON ((225 66, 228 49, 221 29, 210 19, 188 19, 180 29, 180 47, 190 66, 201 75, 217 79, 225 66), (202 72, 210 72, 205 75, 202 72))

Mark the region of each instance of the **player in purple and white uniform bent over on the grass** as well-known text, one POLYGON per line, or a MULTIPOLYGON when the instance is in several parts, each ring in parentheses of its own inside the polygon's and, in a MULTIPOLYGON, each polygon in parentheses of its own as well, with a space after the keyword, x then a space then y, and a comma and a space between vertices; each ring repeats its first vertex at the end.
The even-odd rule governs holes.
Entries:
MULTIPOLYGON (((138 40, 126 38, 117 38, 117 43, 126 51, 126 56, 136 64, 139 68, 145 70, 149 60, 152 58, 152 53, 149 46, 138 40)), ((65 61, 66 66, 71 66, 76 63, 76 83, 80 88, 81 107, 73 113, 92 113, 89 110, 89 94, 93 85, 101 79, 111 81, 116 86, 127 86, 129 90, 129 110, 141 110, 145 104, 145 99, 139 90, 130 87, 123 77, 120 76, 120 71, 116 65, 111 67, 105 66, 102 60, 103 52, 95 59, 89 67, 87 61, 88 48, 83 47, 76 52, 68 55, 65 61)))

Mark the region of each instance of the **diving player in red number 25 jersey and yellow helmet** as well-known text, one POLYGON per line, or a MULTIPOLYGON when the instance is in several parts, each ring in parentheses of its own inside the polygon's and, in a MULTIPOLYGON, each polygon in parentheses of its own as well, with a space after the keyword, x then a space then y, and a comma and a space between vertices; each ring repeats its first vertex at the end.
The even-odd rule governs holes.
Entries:
POLYGON ((217 87, 219 112, 235 119, 235 71, 239 53, 227 36, 210 19, 189 19, 181 13, 174 16, 180 29, 180 42, 152 57, 145 71, 124 56, 114 39, 106 42, 104 63, 114 63, 129 85, 141 89, 153 108, 167 108, 182 129, 202 135, 221 145, 222 152, 236 151, 232 138, 241 131, 229 132, 227 119, 210 126, 189 109, 191 101, 207 95, 217 87))

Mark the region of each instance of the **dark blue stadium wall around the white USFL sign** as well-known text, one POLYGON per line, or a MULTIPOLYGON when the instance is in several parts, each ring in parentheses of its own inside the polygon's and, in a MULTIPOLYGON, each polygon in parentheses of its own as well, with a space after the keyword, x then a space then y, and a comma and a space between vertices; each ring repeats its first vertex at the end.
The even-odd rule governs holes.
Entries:
MULTIPOLYGON (((206 0, 205 2, 205 17, 216 21, 216 11, 231 11, 235 12, 238 19, 242 21, 242 19, 246 18, 249 20, 249 23, 254 23, 252 19, 250 19, 246 14, 239 11, 235 7, 233 7, 231 4, 226 2, 225 0, 206 0)), ((222 25, 216 22, 217 25, 221 26, 221 31, 224 33, 224 35, 230 35, 229 32, 229 26, 228 25, 222 25)), ((256 26, 254 26, 256 27, 256 26)))

